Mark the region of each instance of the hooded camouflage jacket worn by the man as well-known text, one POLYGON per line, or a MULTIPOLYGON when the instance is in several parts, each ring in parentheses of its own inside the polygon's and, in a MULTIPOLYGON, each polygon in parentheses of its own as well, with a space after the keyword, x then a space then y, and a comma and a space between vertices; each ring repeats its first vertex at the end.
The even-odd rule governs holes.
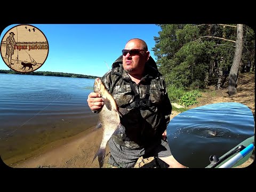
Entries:
POLYGON ((162 74, 157 70, 156 63, 151 57, 146 63, 145 73, 138 85, 123 69, 122 56, 113 63, 112 69, 103 75, 101 81, 113 95, 117 106, 129 110, 129 113, 121 117, 125 134, 112 136, 119 145, 138 148, 146 146, 154 139, 162 138, 162 133, 170 122, 172 106, 162 74), (150 87, 150 107, 141 109, 132 105, 135 93, 131 83, 141 99, 145 98, 147 85, 150 87))

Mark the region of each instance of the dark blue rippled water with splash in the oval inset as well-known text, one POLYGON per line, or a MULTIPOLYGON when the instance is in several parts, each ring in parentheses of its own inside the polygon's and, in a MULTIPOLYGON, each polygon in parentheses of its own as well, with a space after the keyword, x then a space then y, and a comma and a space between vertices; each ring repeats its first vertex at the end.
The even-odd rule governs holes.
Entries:
POLYGON ((222 102, 187 110, 167 126, 173 156, 188 167, 206 167, 210 156, 221 157, 254 135, 254 117, 249 107, 222 102))

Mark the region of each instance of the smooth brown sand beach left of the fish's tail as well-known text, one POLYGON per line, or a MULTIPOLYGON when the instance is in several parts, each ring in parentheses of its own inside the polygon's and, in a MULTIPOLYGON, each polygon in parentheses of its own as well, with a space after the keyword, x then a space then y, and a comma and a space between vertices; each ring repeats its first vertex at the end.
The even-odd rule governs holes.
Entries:
POLYGON ((101 135, 101 130, 94 131, 94 126, 90 127, 88 130, 69 138, 69 142, 57 147, 52 146, 52 149, 46 153, 12 164, 11 167, 98 167, 97 158, 93 163, 92 159, 99 148, 101 135))

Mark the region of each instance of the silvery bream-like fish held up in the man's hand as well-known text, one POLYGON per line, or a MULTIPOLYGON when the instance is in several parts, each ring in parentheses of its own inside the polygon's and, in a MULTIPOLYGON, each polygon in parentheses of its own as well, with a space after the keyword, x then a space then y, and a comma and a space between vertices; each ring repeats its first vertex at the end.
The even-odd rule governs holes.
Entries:
POLYGON ((118 108, 115 99, 108 92, 100 78, 95 78, 93 89, 95 93, 101 94, 101 97, 105 103, 98 113, 99 122, 95 127, 96 129, 102 128, 102 140, 100 147, 92 160, 93 162, 98 156, 98 161, 101 168, 104 164, 106 146, 110 137, 113 134, 122 134, 125 132, 125 127, 120 123, 120 117, 122 117, 122 115, 124 115, 127 111, 125 109, 118 108))

